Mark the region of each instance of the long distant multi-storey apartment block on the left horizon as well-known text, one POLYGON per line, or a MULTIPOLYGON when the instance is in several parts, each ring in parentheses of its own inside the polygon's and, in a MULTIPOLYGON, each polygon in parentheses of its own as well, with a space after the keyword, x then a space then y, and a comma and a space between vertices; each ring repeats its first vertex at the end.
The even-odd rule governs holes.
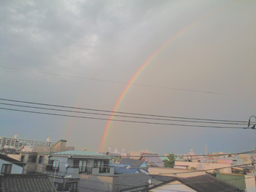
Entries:
POLYGON ((14 134, 14 138, 0 137, 0 145, 2 147, 14 147, 16 149, 23 148, 24 146, 42 146, 42 147, 52 147, 55 142, 52 142, 50 137, 47 138, 46 142, 37 140, 21 140, 18 134, 14 134))

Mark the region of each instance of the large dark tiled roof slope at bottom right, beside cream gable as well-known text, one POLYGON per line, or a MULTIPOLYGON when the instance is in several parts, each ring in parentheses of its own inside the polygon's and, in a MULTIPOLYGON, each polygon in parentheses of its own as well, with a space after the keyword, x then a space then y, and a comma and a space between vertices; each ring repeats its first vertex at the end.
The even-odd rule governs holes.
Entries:
POLYGON ((178 178, 177 180, 198 192, 233 192, 239 190, 239 188, 232 186, 229 183, 226 183, 209 174, 194 176, 190 178, 178 178))

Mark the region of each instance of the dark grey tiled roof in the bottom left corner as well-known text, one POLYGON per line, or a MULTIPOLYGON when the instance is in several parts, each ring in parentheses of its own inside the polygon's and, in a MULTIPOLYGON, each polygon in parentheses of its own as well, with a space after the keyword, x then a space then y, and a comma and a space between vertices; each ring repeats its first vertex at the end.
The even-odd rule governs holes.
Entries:
POLYGON ((6 174, 0 177, 1 192, 56 192, 52 181, 43 174, 6 174))

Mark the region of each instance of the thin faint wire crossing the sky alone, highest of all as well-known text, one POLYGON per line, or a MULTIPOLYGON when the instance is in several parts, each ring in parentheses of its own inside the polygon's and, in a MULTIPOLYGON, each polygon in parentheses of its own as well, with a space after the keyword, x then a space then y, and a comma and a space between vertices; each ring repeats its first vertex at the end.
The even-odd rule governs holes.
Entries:
MULTIPOLYGON (((81 78, 81 79, 87 79, 87 80, 92 80, 92 81, 119 83, 119 84, 125 84, 125 85, 133 85, 133 86, 145 86, 145 87, 150 87, 150 88, 164 88, 164 89, 171 89, 171 90, 176 90, 176 91, 190 91, 190 92, 196 92, 196 93, 209 93, 209 94, 230 95, 230 96, 247 96, 247 95, 232 94, 232 93, 219 93, 219 92, 213 92, 213 91, 197 91, 197 90, 191 90, 191 89, 185 89, 185 88, 170 88, 170 87, 163 87, 163 86, 143 85, 143 84, 137 84, 137 83, 124 83, 124 82, 120 82, 120 81, 109 81, 109 80, 98 79, 98 78, 68 76, 68 75, 58 74, 58 73, 47 73, 47 72, 42 72, 42 71, 26 70, 26 69, 19 69, 19 68, 8 68, 8 67, 0 67, 0 68, 6 68, 6 69, 12 69, 12 70, 22 70, 22 71, 27 71, 27 72, 32 72, 32 73, 42 73, 42 74, 48 74, 48 75, 52 75, 52 76, 64 76, 64 77, 69 77, 69 78, 81 78)), ((247 96, 247 97, 255 97, 255 96, 247 96)))

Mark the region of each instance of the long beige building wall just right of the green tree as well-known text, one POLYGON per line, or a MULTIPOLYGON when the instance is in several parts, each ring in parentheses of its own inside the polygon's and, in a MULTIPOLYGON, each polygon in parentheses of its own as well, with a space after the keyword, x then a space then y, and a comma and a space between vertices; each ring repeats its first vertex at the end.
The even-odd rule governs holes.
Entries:
MULTIPOLYGON (((219 169, 220 173, 232 173, 230 167, 231 164, 221 164, 221 163, 194 163, 194 162, 181 162, 175 161, 174 166, 184 166, 188 165, 188 169, 195 168, 196 170, 209 170, 209 169, 219 169)), ((213 172, 214 170, 209 170, 209 172, 213 172)))

